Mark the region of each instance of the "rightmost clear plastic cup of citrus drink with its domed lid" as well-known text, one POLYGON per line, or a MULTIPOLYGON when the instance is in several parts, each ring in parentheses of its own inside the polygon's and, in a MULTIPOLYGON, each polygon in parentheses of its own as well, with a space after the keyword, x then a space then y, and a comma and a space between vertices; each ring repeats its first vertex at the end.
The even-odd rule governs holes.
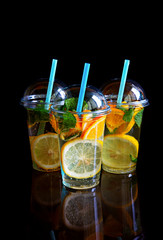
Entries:
POLYGON ((119 85, 120 80, 114 79, 101 88, 111 109, 106 117, 102 168, 123 174, 136 169, 143 111, 149 102, 142 87, 127 80, 122 103, 117 103, 119 85))

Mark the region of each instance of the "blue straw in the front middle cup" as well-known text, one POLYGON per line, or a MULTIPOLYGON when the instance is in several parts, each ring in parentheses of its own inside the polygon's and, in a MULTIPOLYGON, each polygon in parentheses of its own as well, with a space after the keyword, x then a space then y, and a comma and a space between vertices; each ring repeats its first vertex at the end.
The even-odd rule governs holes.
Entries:
POLYGON ((85 95, 85 90, 86 90, 86 85, 87 85, 87 80, 88 80, 88 74, 89 74, 89 68, 90 68, 90 64, 85 63, 82 82, 81 82, 81 86, 80 86, 78 104, 77 104, 77 108, 76 108, 77 112, 82 112, 84 95, 85 95))

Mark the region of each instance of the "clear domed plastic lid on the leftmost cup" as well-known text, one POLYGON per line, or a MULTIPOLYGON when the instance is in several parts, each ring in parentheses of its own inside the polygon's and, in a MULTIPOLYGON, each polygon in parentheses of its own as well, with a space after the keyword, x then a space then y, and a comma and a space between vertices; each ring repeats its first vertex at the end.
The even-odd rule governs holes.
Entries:
MULTIPOLYGON (((41 78, 32 85, 30 85, 24 92, 24 96, 21 99, 21 104, 25 107, 34 107, 36 104, 45 103, 49 80, 41 78)), ((52 89, 52 95, 50 103, 56 103, 66 98, 64 88, 66 85, 55 80, 52 89)), ((49 104, 50 104, 49 103, 49 104)))

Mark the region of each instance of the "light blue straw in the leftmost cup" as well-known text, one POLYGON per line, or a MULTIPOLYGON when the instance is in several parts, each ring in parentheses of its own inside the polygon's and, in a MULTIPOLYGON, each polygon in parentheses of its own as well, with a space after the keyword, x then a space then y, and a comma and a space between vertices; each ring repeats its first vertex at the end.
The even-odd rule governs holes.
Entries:
POLYGON ((52 66, 51 66, 51 72, 50 72, 50 77, 49 77, 49 84, 48 84, 48 90, 46 94, 46 100, 45 103, 50 103, 51 95, 52 95, 52 89, 53 89, 53 84, 55 80, 55 72, 57 68, 57 61, 56 59, 53 59, 52 61, 52 66))

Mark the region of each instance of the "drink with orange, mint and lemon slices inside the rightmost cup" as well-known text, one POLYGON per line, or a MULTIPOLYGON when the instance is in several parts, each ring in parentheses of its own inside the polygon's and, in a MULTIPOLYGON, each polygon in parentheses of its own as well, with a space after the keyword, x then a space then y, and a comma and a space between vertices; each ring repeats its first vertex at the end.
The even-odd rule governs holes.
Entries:
POLYGON ((106 117, 102 164, 112 173, 132 172, 136 168, 143 107, 122 103, 110 105, 106 117))

